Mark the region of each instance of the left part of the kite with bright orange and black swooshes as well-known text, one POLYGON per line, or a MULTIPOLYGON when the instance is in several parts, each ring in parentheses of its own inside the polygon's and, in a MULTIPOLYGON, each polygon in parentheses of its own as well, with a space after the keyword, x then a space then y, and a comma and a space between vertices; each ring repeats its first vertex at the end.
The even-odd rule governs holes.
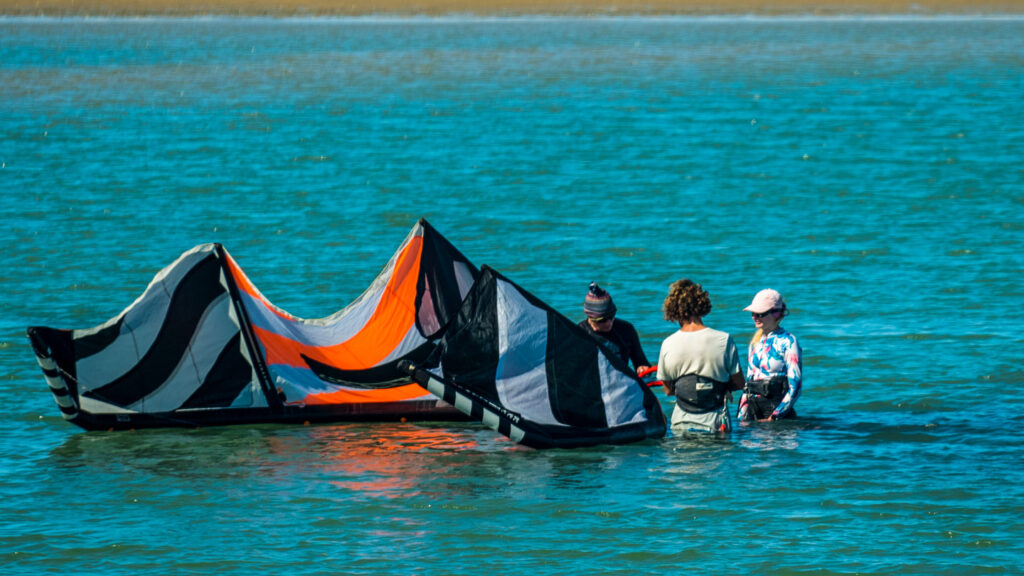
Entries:
POLYGON ((452 419, 397 363, 426 358, 477 274, 420 220, 354 302, 303 320, 204 244, 100 326, 28 332, 61 414, 87 429, 452 419))

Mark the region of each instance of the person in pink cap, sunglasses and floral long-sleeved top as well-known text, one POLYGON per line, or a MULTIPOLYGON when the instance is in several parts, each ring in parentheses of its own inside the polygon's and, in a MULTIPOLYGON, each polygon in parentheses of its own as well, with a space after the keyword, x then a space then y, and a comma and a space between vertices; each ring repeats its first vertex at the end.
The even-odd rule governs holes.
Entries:
POLYGON ((746 384, 736 417, 746 421, 795 418, 803 388, 803 364, 797 337, 779 326, 790 314, 782 295, 765 289, 754 296, 751 313, 757 332, 746 355, 746 384))

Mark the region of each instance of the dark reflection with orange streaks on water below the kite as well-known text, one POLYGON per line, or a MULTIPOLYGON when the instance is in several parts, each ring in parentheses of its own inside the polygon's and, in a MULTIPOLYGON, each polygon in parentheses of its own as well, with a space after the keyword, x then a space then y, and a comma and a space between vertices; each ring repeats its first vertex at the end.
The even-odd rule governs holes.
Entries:
POLYGON ((350 496, 451 497, 503 487, 599 488, 607 482, 602 471, 614 472, 635 453, 607 446, 537 451, 472 423, 374 422, 81 433, 43 465, 59 476, 313 482, 350 496))

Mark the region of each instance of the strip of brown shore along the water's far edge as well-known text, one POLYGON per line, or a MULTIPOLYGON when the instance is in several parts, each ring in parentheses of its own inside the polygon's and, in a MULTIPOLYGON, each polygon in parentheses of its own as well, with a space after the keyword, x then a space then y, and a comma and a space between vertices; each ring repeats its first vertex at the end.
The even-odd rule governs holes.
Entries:
POLYGON ((1024 0, 0 0, 5 16, 1019 15, 1024 0))

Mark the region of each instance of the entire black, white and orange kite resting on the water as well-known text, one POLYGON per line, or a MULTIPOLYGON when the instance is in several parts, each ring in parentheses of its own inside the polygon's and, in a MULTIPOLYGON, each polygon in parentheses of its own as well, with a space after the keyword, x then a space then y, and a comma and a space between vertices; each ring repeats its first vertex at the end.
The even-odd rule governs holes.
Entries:
POLYGON ((574 447, 666 428, 615 355, 422 219, 327 318, 279 308, 223 246, 203 244, 110 321, 28 333, 61 415, 86 429, 469 416, 529 446, 574 447))

